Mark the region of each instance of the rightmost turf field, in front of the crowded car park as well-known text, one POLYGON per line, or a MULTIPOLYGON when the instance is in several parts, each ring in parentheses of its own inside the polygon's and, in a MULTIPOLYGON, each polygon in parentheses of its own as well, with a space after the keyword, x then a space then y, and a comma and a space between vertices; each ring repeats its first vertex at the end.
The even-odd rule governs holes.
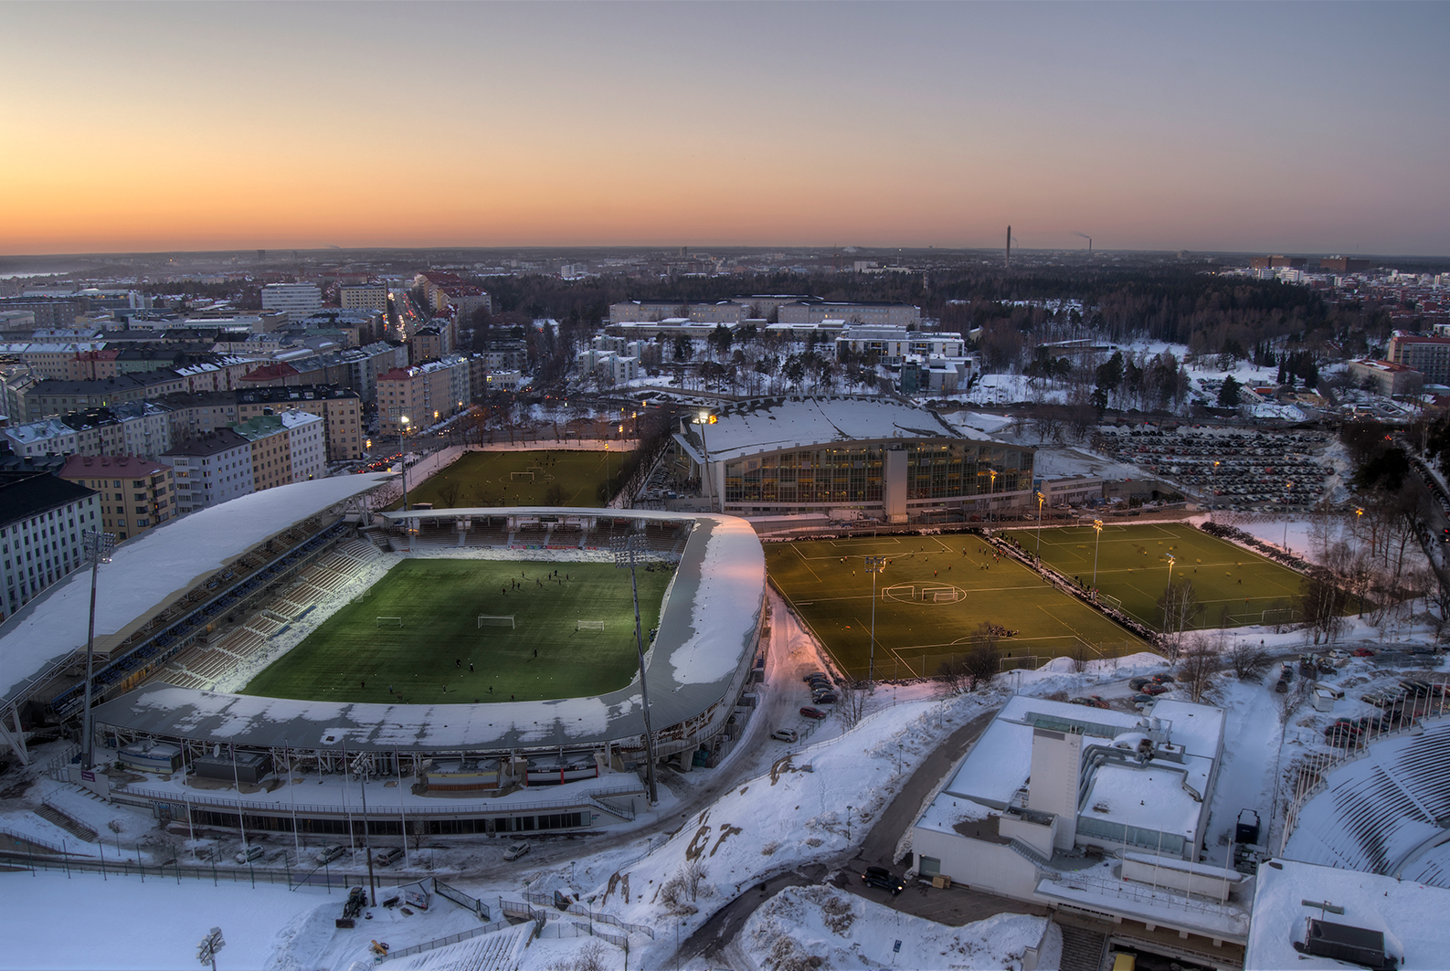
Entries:
MULTIPOLYGON (((1030 552, 1037 551, 1037 532, 1015 530, 1012 536, 1030 552)), ((1092 584, 1092 526, 1043 530, 1043 559, 1067 577, 1092 584)), ((1262 623, 1289 610, 1299 597, 1301 577, 1272 559, 1224 542, 1188 525, 1106 523, 1098 551, 1098 590, 1122 601, 1122 609, 1153 629, 1163 626, 1159 599, 1169 585, 1167 554, 1173 554, 1173 578, 1193 581, 1204 604, 1198 626, 1222 628, 1262 623)))

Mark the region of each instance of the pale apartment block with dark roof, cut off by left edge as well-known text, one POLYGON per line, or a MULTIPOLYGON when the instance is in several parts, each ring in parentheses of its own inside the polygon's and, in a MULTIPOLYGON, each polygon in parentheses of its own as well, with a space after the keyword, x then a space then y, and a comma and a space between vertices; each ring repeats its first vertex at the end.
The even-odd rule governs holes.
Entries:
POLYGON ((97 493, 39 472, 0 486, 0 613, 84 565, 81 533, 100 529, 97 493))

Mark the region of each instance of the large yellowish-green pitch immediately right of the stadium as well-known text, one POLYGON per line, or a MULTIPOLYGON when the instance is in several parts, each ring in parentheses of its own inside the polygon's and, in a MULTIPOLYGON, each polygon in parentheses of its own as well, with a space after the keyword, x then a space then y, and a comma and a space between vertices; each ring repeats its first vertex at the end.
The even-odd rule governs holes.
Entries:
POLYGON ((853 677, 866 677, 870 665, 873 597, 864 558, 871 555, 889 561, 876 577, 879 678, 935 674, 983 623, 1015 632, 999 642, 1005 667, 1147 649, 1031 570, 993 559, 976 535, 767 543, 771 580, 853 677))

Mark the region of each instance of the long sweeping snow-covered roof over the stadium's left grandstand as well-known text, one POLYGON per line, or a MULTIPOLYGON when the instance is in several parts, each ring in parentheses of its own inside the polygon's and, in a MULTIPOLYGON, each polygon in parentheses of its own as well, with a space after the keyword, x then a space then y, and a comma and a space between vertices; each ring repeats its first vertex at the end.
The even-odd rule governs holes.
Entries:
MULTIPOLYGON (((96 588, 96 643, 116 643, 202 577, 257 543, 390 478, 387 472, 293 483, 203 509, 120 543, 96 588)), ((0 626, 0 685, 14 697, 51 664, 86 646, 90 571, 77 570, 0 626)))

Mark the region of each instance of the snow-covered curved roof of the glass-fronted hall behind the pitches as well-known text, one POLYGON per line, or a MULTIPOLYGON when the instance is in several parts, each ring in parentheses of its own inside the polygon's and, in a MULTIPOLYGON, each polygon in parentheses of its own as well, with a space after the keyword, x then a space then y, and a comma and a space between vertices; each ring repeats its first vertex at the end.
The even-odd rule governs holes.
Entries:
POLYGON ((702 429, 712 462, 829 442, 963 438, 935 412, 874 397, 755 399, 721 410, 713 425, 687 428, 684 445, 697 462, 703 458, 702 429))

